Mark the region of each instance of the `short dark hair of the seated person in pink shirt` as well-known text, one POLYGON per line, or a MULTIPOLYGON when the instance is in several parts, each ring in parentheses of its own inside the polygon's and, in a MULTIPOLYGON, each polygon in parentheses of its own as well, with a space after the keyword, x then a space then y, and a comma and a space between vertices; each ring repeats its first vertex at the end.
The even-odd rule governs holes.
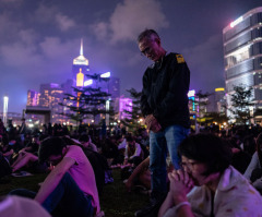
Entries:
POLYGON ((47 161, 47 159, 51 155, 62 155, 62 149, 66 147, 67 144, 63 142, 61 137, 51 136, 45 138, 40 143, 39 152, 38 152, 38 159, 40 162, 47 161))

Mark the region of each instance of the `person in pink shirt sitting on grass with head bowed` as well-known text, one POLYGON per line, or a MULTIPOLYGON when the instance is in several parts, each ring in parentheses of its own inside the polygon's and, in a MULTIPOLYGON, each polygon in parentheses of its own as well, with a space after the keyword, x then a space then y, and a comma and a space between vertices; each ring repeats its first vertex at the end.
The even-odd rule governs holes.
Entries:
POLYGON ((39 160, 55 166, 39 191, 14 190, 11 194, 34 197, 55 216, 103 216, 95 174, 81 147, 48 137, 40 144, 39 160))

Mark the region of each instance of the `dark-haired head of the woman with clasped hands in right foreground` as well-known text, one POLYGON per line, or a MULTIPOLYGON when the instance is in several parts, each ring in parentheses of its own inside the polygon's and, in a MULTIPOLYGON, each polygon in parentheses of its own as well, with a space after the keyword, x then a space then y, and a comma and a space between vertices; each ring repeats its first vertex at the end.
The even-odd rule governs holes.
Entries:
POLYGON ((195 134, 187 137, 178 147, 181 165, 202 185, 212 174, 222 174, 231 161, 233 153, 226 141, 214 134, 195 134))

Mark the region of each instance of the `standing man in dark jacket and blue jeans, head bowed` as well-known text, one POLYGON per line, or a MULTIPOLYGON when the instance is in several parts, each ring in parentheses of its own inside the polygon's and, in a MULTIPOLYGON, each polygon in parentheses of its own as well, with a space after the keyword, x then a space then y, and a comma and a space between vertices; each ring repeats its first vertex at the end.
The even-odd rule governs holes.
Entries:
MULTIPOLYGON (((190 71, 182 55, 167 52, 158 34, 145 29, 138 37, 140 51, 154 63, 143 75, 141 110, 150 130, 151 205, 135 213, 145 216, 167 192, 166 157, 179 168, 177 147, 189 134, 188 92, 190 71)), ((155 212, 153 212, 155 213, 155 212)))

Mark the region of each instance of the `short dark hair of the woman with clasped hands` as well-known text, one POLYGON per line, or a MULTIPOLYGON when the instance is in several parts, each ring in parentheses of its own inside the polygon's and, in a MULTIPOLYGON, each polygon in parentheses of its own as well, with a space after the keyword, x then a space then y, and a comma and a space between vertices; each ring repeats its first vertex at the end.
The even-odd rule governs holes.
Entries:
POLYGON ((204 176, 224 172, 231 162, 229 144, 214 134, 195 134, 184 138, 178 147, 180 156, 203 162, 207 166, 204 176))

